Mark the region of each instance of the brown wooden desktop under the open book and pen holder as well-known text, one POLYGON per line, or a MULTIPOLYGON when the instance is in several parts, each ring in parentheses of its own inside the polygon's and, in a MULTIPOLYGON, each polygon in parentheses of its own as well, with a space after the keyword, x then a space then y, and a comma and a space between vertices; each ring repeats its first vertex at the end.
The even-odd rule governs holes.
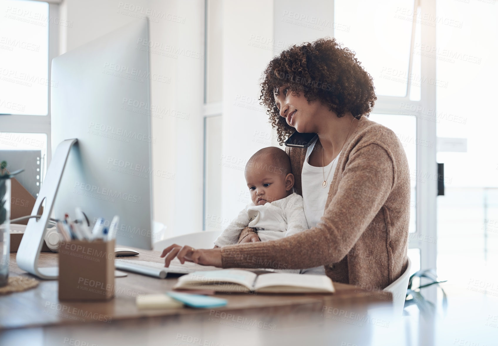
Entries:
MULTIPOLYGON (((159 251, 138 249, 139 255, 125 257, 130 261, 146 260, 161 262, 159 251)), ((19 269, 15 263, 15 253, 10 255, 10 275, 29 275, 19 269)), ((40 266, 57 265, 58 255, 52 252, 40 254, 40 266)), ((164 321, 172 318, 175 321, 199 314, 213 314, 209 309, 163 309, 138 310, 135 306, 137 296, 171 290, 176 278, 157 279, 134 273, 115 279, 116 297, 109 302, 59 302, 57 298, 57 280, 41 280, 38 287, 25 291, 0 296, 0 328, 1 330, 32 327, 81 326, 82 323, 105 324, 112 322, 130 322, 146 319, 164 321), (181 317, 181 318, 179 318, 181 317), (107 323, 106 323, 107 322, 107 323)), ((240 314, 257 314, 272 316, 288 315, 295 312, 320 313, 324 307, 350 307, 365 310, 379 303, 392 301, 388 292, 369 292, 352 285, 334 283, 336 293, 305 295, 274 294, 220 294, 228 300, 228 305, 218 308, 220 312, 239 311, 240 314)))

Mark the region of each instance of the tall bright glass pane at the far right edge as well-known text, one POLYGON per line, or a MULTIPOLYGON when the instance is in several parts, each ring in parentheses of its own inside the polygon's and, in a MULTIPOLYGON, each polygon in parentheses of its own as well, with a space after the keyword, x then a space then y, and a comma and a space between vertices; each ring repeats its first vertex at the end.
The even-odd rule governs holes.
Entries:
POLYGON ((436 47, 423 51, 447 83, 436 99, 437 135, 467 140, 466 150, 437 153, 446 183, 437 205, 438 272, 453 290, 474 294, 470 279, 496 286, 498 272, 498 35, 487 29, 498 8, 489 1, 441 1, 437 10, 448 24, 437 27, 436 47))

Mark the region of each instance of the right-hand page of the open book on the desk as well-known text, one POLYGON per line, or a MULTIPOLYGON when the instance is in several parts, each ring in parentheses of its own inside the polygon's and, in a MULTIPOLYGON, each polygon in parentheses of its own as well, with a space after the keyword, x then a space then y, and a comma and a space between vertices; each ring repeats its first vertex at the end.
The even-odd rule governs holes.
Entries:
POLYGON ((334 292, 332 280, 326 275, 269 273, 259 275, 254 283, 258 292, 334 292))

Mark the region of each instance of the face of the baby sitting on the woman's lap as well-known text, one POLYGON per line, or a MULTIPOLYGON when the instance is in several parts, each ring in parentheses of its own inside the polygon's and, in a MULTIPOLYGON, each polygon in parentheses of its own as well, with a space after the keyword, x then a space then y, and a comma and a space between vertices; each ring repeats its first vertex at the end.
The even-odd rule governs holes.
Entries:
POLYGON ((278 169, 276 172, 272 172, 249 168, 246 169, 245 175, 250 198, 256 206, 285 198, 288 195, 287 191, 292 189, 292 186, 285 186, 285 175, 280 174, 278 169))

